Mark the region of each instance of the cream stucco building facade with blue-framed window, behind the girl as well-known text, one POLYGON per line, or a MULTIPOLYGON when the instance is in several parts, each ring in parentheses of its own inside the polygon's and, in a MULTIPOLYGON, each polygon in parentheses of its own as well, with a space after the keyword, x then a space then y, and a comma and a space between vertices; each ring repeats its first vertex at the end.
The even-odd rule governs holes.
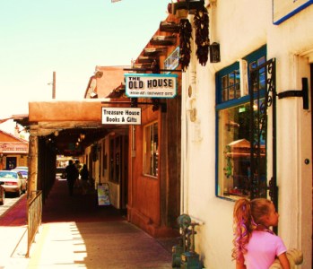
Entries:
POLYGON ((181 212, 200 223, 196 252, 206 268, 234 266, 234 201, 263 196, 274 199, 286 247, 299 248, 302 267, 311 268, 313 5, 204 6, 221 58, 201 65, 189 13, 192 53, 182 80, 181 212))

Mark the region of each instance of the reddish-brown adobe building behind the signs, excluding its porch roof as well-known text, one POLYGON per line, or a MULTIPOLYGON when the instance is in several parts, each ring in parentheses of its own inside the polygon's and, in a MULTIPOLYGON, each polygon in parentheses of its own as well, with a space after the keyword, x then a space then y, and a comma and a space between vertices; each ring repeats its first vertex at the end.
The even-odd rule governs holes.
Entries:
POLYGON ((141 110, 140 125, 108 126, 108 134, 88 147, 84 155, 96 184, 109 185, 110 203, 126 210, 128 221, 155 237, 177 233, 180 213, 178 43, 177 18, 170 15, 161 22, 134 64, 124 68, 126 82, 116 83, 112 91, 103 94, 104 83, 100 79, 106 78, 113 67, 97 66, 85 94, 86 98, 106 98, 101 100, 105 108, 141 110), (136 82, 144 78, 161 82, 169 79, 170 74, 176 78, 173 98, 137 98, 126 92, 133 83, 129 82, 130 77, 135 77, 136 82), (91 155, 93 161, 88 158, 91 155))

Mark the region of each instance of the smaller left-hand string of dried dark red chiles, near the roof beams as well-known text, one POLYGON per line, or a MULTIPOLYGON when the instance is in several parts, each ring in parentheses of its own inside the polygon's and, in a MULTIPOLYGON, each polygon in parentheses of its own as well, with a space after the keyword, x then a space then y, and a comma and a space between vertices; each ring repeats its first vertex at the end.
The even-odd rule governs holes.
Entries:
POLYGON ((187 19, 182 19, 179 22, 179 64, 183 72, 186 71, 190 63, 190 39, 192 27, 187 19))

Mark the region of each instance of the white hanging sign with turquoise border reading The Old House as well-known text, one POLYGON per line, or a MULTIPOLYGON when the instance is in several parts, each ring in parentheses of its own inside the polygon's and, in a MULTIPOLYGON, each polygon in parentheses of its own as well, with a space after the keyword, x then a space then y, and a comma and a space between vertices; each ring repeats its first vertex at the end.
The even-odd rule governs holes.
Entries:
POLYGON ((174 98, 177 74, 125 74, 126 96, 131 98, 174 98))

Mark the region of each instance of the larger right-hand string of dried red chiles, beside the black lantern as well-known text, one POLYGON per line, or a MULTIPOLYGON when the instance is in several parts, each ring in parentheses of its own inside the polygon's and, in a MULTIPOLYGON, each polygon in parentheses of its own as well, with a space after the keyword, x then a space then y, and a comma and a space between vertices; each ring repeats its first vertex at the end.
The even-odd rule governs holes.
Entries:
POLYGON ((209 15, 207 9, 196 10, 194 23, 196 26, 196 56, 201 65, 206 65, 209 55, 209 15))

